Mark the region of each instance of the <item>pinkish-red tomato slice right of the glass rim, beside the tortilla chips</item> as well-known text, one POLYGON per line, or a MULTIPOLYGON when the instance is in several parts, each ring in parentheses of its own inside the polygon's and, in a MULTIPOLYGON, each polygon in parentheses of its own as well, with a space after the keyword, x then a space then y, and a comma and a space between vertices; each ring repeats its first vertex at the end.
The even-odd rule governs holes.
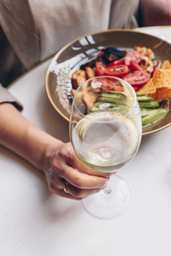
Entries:
POLYGON ((147 71, 137 70, 123 77, 131 86, 142 86, 150 80, 151 74, 147 71))

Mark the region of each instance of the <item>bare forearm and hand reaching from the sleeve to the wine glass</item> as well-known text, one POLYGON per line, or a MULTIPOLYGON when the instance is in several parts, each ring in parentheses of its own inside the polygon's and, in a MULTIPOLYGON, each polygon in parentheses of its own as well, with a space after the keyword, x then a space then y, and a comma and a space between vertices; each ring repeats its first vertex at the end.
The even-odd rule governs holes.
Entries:
POLYGON ((106 177, 113 174, 101 174, 83 165, 71 143, 63 143, 35 127, 10 103, 0 104, 0 144, 42 170, 50 190, 63 197, 80 200, 99 192, 106 186, 106 177), (66 181, 69 193, 64 192, 66 181))

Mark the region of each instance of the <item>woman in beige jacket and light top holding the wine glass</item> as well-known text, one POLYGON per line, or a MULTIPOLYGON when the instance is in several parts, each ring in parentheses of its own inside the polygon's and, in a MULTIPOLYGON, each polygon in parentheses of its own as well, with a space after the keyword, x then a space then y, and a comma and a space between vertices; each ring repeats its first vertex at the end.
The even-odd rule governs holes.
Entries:
MULTIPOLYGON (((137 26, 137 6, 138 0, 4 0, 0 3, 1 84, 7 86, 24 70, 83 34, 137 26)), ((2 86, 0 103, 1 145, 42 170, 52 192, 80 200, 106 187, 113 173, 99 173, 83 165, 70 143, 27 121, 17 110, 22 109, 20 103, 2 86)))

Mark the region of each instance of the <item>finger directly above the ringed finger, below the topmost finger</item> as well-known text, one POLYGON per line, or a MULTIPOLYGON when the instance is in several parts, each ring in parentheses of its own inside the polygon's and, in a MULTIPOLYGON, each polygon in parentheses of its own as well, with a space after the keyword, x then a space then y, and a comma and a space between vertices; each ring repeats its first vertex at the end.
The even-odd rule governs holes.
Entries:
POLYGON ((62 174, 66 181, 80 189, 96 189, 103 187, 109 180, 109 178, 105 177, 89 176, 80 173, 69 165, 65 166, 62 174))

